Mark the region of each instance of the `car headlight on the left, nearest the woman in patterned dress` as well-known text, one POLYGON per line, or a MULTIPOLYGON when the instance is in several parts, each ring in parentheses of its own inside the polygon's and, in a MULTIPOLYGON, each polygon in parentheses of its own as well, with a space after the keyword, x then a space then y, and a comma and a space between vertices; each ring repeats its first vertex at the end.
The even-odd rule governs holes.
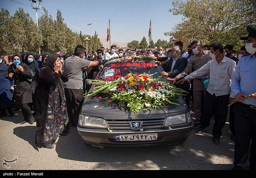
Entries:
POLYGON ((78 124, 81 127, 107 128, 107 123, 102 118, 79 115, 78 124))

